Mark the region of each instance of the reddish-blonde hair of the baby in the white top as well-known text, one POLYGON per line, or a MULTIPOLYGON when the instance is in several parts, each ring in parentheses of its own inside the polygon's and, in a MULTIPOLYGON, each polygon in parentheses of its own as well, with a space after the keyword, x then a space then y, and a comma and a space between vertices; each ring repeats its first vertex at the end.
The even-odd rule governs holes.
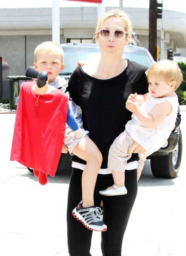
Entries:
POLYGON ((147 80, 149 76, 158 77, 161 80, 164 80, 167 84, 171 81, 176 81, 176 90, 181 82, 183 81, 182 71, 172 60, 161 60, 158 62, 153 62, 151 67, 146 71, 147 80))

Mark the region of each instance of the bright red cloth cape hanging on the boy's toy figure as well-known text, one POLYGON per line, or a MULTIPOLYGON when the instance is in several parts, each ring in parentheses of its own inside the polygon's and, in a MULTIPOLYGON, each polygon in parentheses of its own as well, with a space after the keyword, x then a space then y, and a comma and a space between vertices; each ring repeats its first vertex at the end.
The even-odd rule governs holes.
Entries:
POLYGON ((54 177, 63 146, 68 96, 56 89, 38 98, 32 90, 34 83, 21 83, 10 160, 54 177))

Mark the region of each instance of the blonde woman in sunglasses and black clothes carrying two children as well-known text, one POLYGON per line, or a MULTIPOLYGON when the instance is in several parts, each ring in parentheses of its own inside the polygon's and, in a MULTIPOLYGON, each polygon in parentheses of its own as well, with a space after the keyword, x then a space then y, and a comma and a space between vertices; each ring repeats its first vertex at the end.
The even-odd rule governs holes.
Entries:
MULTIPOLYGON (((79 66, 71 75, 68 91, 82 109, 82 121, 89 137, 102 153, 103 162, 94 191, 95 205, 103 201, 103 221, 107 231, 102 232, 101 249, 104 256, 121 256, 123 235, 137 194, 137 156, 130 159, 125 170, 128 193, 107 197, 100 190, 113 185, 111 170, 107 168, 108 151, 114 139, 131 119, 125 103, 131 93, 148 92, 146 66, 123 59, 123 48, 134 43, 131 38, 130 18, 121 10, 110 10, 98 21, 95 39, 99 43, 101 59, 94 65, 79 66)), ((137 145, 137 150, 138 151, 137 145)), ((140 147, 139 147, 140 148, 140 147)), ((141 149, 140 149, 141 150, 141 149)), ((143 150, 143 149, 142 149, 143 150)), ((70 256, 90 256, 92 231, 72 216, 72 210, 81 200, 81 176, 85 163, 72 157, 72 176, 67 205, 67 236, 70 256)), ((94 167, 94 166, 93 166, 94 167)))

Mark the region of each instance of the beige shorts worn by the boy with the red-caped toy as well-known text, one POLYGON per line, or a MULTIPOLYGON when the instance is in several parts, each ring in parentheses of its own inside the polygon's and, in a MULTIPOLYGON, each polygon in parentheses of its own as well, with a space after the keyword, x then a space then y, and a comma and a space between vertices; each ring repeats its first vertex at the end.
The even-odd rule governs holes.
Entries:
POLYGON ((64 138, 64 145, 68 148, 70 155, 72 154, 73 149, 75 148, 75 146, 80 142, 80 140, 84 137, 88 137, 89 131, 85 131, 83 129, 83 123, 78 123, 79 127, 83 130, 83 135, 81 136, 81 138, 76 139, 74 136, 73 131, 71 130, 70 127, 67 127, 65 129, 65 133, 67 135, 67 137, 64 138))

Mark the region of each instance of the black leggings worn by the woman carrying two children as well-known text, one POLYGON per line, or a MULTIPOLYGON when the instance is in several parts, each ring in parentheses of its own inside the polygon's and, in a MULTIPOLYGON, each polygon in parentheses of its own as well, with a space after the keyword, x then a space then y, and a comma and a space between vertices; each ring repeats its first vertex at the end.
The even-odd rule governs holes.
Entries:
MULTIPOLYGON (((82 170, 73 168, 68 192, 67 237, 70 256, 91 256, 92 231, 85 228, 72 216, 72 210, 82 200, 82 170)), ((99 190, 114 184, 112 174, 98 174, 94 191, 94 204, 99 206, 103 200, 103 222, 107 230, 101 233, 103 256, 121 256, 123 235, 136 199, 138 184, 137 170, 125 171, 127 194, 121 196, 102 196, 99 190)))

